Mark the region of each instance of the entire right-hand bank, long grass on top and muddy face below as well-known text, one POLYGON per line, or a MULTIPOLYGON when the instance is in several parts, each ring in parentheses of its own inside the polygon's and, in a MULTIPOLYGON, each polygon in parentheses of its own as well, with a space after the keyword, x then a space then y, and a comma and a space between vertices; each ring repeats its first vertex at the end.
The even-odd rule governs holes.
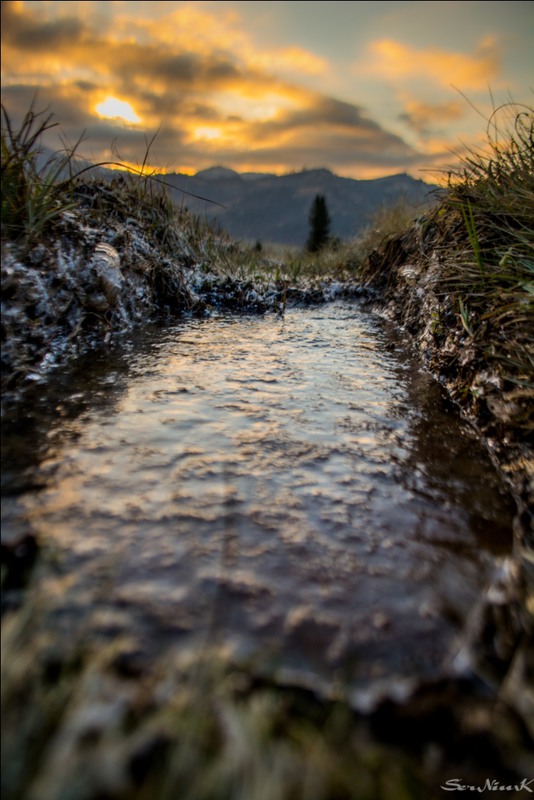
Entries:
MULTIPOLYGON (((439 205, 372 252, 360 277, 534 501, 533 111, 504 108, 439 205)), ((530 520, 525 520, 530 524, 530 520)))

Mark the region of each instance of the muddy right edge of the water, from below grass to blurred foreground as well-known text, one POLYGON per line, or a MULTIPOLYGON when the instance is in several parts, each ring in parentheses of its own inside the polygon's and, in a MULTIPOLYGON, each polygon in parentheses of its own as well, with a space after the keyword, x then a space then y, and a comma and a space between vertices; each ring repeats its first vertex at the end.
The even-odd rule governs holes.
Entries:
POLYGON ((488 340, 499 331, 486 330, 486 338, 462 324, 458 296, 444 278, 451 238, 450 220, 440 222, 434 214, 373 252, 366 281, 378 292, 374 307, 406 331, 427 368, 478 430, 517 504, 513 553, 497 566, 494 581, 467 621, 456 666, 487 681, 491 702, 515 708, 532 735, 532 376, 511 379, 492 358, 488 340))

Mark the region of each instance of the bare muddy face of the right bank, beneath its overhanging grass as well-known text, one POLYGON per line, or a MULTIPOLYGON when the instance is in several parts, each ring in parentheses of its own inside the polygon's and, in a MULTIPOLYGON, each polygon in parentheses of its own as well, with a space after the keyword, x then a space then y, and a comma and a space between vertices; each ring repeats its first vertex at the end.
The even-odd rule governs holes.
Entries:
POLYGON ((378 293, 375 307, 406 330, 426 367, 478 429, 518 502, 521 546, 532 551, 532 375, 507 375, 493 357, 491 338, 504 334, 475 334, 462 324, 458 295, 444 278, 450 240, 450 224, 435 214, 373 252, 366 281, 378 293))

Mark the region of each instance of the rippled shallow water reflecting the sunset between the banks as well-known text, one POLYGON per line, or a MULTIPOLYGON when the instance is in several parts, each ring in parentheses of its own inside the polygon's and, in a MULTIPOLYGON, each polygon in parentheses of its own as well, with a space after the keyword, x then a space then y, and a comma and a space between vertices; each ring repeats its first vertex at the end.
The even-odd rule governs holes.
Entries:
POLYGON ((511 546, 441 387, 357 305, 151 328, 4 415, 3 537, 55 636, 218 643, 356 691, 433 677, 511 546))

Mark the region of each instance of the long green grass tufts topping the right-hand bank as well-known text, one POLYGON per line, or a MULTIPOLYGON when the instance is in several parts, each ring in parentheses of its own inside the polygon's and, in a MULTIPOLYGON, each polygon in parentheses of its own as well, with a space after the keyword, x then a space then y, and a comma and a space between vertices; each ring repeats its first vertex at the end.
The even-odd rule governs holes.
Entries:
POLYGON ((362 280, 384 290, 389 282, 393 292, 402 264, 415 265, 421 277, 432 271, 440 329, 459 328, 476 354, 473 369, 493 370, 505 388, 515 387, 516 399, 527 400, 534 389, 533 126, 530 107, 496 109, 485 147, 460 159, 438 204, 388 236, 360 271, 362 280))

